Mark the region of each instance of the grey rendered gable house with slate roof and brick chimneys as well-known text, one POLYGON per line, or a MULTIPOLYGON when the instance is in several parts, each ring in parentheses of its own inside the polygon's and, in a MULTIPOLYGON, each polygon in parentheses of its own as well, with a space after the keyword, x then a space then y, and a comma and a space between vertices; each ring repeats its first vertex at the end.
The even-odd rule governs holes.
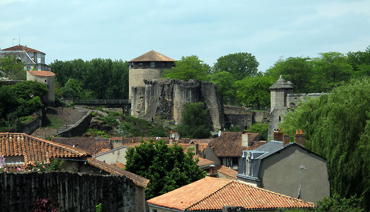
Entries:
POLYGON ((284 141, 270 141, 254 150, 243 151, 237 179, 309 202, 328 197, 326 159, 304 147, 303 133, 295 135, 294 143, 289 142, 289 135, 274 134, 276 140, 284 141))

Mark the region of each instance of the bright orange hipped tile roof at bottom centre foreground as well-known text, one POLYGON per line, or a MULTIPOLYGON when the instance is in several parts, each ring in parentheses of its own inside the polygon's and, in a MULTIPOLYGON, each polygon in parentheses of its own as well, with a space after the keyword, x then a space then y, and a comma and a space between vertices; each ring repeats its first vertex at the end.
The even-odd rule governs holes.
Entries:
POLYGON ((223 206, 241 206, 247 210, 316 206, 239 181, 215 177, 205 177, 147 202, 149 206, 180 211, 221 211, 223 206))

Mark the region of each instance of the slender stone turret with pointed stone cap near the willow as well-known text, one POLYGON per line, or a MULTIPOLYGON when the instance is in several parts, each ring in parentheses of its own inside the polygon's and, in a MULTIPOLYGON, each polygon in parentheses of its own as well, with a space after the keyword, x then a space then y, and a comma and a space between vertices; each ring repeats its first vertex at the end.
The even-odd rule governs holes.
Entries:
POLYGON ((271 108, 270 122, 268 124, 268 138, 272 138, 274 129, 278 128, 279 122, 283 121, 283 115, 287 112, 287 96, 293 93, 293 83, 286 81, 283 76, 270 87, 271 108))

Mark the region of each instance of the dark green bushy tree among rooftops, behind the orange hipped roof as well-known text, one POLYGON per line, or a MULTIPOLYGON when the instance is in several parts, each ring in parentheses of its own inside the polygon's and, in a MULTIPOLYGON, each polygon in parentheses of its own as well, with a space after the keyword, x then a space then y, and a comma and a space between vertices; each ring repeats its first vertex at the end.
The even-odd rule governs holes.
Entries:
POLYGON ((181 146, 165 141, 142 141, 140 146, 129 148, 126 153, 126 170, 150 180, 146 199, 165 194, 206 176, 193 160, 194 153, 184 153, 181 146))

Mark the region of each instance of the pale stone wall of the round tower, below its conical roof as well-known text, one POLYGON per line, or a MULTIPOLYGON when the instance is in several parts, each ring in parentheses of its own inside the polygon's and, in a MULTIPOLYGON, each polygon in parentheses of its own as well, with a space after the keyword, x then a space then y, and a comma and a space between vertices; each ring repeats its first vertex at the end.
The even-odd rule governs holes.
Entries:
POLYGON ((128 70, 128 98, 132 99, 132 87, 144 87, 143 79, 161 78, 164 69, 129 69, 128 70))

